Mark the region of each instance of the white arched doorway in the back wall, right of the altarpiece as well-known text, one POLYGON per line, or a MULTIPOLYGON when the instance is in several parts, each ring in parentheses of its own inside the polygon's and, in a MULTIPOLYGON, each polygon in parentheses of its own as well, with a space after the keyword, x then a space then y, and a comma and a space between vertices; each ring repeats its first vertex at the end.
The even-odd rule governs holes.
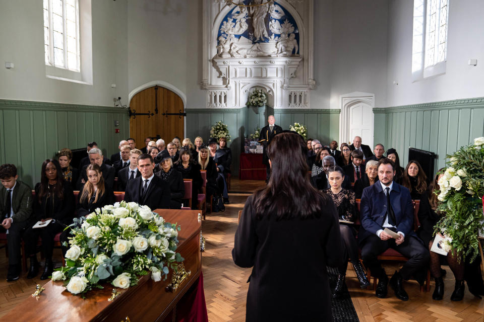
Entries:
POLYGON ((362 143, 373 148, 375 95, 353 92, 340 96, 340 142, 352 142, 361 136, 362 143))

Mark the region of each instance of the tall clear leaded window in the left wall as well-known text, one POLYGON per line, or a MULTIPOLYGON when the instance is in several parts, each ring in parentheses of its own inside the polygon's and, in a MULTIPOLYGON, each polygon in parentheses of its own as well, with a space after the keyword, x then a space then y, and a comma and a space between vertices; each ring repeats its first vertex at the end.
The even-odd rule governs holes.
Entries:
POLYGON ((43 0, 45 64, 80 70, 79 0, 43 0))

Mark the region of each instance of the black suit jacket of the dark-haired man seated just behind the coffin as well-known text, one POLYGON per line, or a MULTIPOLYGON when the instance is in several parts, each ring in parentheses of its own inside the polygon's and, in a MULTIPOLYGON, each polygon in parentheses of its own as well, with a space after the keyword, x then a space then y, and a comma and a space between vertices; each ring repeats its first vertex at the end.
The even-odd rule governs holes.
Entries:
POLYGON ((148 191, 141 196, 141 183, 143 177, 128 181, 125 191, 125 201, 134 201, 140 205, 147 205, 151 210, 170 209, 170 186, 158 176, 151 179, 148 191))

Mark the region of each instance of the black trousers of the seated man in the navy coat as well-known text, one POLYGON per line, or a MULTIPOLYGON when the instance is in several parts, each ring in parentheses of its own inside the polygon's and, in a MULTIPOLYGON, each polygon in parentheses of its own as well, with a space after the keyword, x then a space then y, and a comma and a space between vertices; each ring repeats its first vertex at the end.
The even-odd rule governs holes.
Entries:
POLYGON ((375 277, 385 275, 385 270, 380 265, 377 256, 389 248, 398 251, 408 258, 408 261, 400 269, 400 274, 404 280, 410 279, 415 272, 423 267, 427 267, 430 261, 429 250, 422 245, 418 237, 412 235, 405 236, 403 243, 396 245, 393 238, 382 240, 376 234, 372 234, 361 240, 360 246, 363 264, 371 270, 372 275, 375 277))

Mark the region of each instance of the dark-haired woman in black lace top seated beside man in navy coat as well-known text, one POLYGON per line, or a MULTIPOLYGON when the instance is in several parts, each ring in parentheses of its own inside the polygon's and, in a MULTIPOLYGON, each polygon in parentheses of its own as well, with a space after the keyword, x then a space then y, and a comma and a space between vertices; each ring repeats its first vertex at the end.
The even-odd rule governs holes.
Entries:
MULTIPOLYGON (((343 238, 344 256, 349 257, 351 264, 353 265, 356 276, 358 277, 361 288, 366 288, 370 285, 367 275, 361 263, 358 259, 358 244, 356 243, 356 229, 354 228, 355 221, 355 195, 351 190, 343 189, 341 184, 343 183, 344 173, 343 169, 339 166, 331 167, 328 171, 328 181, 331 188, 324 190, 332 199, 338 210, 338 218, 340 220, 339 231, 343 238)), ((347 263, 344 262, 338 267, 338 280, 336 281, 336 287, 332 294, 333 298, 341 296, 343 290, 343 284, 346 276, 347 263)))

